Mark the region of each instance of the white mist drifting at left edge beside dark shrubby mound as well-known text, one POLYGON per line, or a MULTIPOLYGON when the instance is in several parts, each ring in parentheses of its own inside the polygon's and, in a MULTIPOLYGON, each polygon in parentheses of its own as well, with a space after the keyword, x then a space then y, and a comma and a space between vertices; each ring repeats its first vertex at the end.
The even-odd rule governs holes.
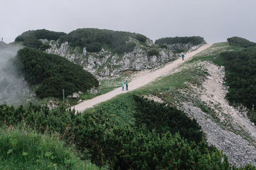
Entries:
POLYGON ((0 104, 17 106, 33 98, 28 84, 13 63, 20 48, 22 46, 0 42, 0 104))

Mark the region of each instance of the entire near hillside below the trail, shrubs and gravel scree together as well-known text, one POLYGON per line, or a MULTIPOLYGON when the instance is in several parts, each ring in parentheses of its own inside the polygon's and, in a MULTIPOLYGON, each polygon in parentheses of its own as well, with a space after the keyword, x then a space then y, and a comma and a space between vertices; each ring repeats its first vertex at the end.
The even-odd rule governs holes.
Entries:
MULTIPOLYGON (((24 50, 31 57, 56 57, 24 50)), ((166 69, 150 84, 83 113, 65 105, 49 110, 3 104, 1 125, 12 129, 25 124, 38 134, 58 134, 83 159, 108 169, 255 169, 248 165, 255 165, 255 126, 246 111, 228 104, 224 69, 214 64, 222 63, 220 53, 230 50, 243 48, 215 44, 191 60, 179 59, 179 67, 166 69)), ((23 156, 27 153, 32 154, 24 150, 23 156)))

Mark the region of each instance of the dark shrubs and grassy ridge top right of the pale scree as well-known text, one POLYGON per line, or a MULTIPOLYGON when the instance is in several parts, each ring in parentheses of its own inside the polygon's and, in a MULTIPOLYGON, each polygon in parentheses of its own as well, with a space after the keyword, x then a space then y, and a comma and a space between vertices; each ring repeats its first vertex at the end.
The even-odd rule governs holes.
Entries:
POLYGON ((211 60, 218 66, 225 66, 228 101, 235 106, 246 106, 249 109, 248 117, 256 123, 256 47, 252 45, 253 42, 244 38, 228 38, 228 43, 216 43, 189 62, 211 60))

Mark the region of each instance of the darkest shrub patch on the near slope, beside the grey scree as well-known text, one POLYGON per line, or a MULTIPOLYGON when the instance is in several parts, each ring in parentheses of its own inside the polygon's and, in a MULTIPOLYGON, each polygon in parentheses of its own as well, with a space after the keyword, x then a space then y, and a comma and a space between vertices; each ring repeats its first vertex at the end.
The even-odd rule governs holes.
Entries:
POLYGON ((202 131, 196 120, 191 120, 183 111, 165 106, 165 104, 147 101, 138 96, 134 96, 138 112, 134 115, 136 125, 145 124, 152 131, 162 134, 164 132, 179 132, 180 136, 199 143, 202 141, 202 131))

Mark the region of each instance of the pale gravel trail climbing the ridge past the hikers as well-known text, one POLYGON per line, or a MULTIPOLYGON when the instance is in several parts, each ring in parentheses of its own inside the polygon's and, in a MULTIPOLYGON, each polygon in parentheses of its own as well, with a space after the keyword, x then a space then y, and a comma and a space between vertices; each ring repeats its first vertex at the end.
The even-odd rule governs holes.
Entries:
MULTIPOLYGON (((102 103, 104 101, 108 101, 109 99, 112 99, 113 97, 118 96, 119 94, 124 94, 126 92, 130 92, 132 90, 143 87, 143 86, 147 85, 148 83, 156 80, 156 78, 159 78, 160 76, 164 76, 165 74, 168 74, 170 71, 172 71, 176 67, 180 66, 180 64, 182 64, 183 62, 186 62, 186 60, 191 59, 194 55, 196 55, 199 52, 202 52, 206 48, 209 48, 211 45, 212 44, 205 44, 195 51, 186 53, 186 55, 184 57, 184 61, 182 61, 182 59, 179 57, 178 59, 170 62, 169 64, 166 64, 166 66, 164 66, 160 69, 156 69, 154 71, 141 71, 129 83, 128 91, 122 91, 122 87, 120 86, 120 88, 112 90, 111 92, 102 94, 100 96, 94 97, 93 99, 89 99, 89 100, 83 101, 75 106, 72 106, 72 109, 75 109, 76 111, 84 111, 87 108, 92 108, 96 104, 102 103)), ((121 84, 121 82, 120 82, 120 84, 121 84)))

